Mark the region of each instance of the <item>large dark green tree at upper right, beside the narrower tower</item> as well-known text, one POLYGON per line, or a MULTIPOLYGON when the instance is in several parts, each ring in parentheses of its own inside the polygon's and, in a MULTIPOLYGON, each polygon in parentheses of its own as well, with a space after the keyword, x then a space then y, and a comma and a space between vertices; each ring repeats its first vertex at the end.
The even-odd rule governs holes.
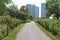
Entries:
POLYGON ((48 17, 51 14, 55 14, 55 17, 57 19, 59 19, 59 16, 60 16, 59 4, 60 4, 60 0, 47 0, 47 2, 46 2, 46 10, 47 10, 47 16, 48 17))

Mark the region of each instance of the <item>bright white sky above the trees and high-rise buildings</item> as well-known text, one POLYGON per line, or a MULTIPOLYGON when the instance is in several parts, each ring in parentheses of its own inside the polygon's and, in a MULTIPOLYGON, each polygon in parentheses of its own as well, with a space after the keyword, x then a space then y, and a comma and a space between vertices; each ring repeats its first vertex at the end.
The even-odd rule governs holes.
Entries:
POLYGON ((26 4, 34 4, 39 7, 39 17, 41 16, 41 3, 45 3, 45 0, 12 0, 15 5, 17 5, 18 9, 22 5, 26 4))

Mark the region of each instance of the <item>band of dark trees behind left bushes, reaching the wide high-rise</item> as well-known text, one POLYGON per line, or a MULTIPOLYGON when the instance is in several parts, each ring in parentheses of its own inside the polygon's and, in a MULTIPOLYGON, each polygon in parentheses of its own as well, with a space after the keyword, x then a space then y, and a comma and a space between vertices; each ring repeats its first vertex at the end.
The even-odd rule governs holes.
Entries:
POLYGON ((21 7, 21 9, 19 11, 16 6, 10 6, 10 8, 8 8, 9 15, 11 17, 21 19, 22 21, 32 19, 32 16, 30 16, 30 14, 27 12, 27 10, 24 11, 24 7, 25 6, 21 7))

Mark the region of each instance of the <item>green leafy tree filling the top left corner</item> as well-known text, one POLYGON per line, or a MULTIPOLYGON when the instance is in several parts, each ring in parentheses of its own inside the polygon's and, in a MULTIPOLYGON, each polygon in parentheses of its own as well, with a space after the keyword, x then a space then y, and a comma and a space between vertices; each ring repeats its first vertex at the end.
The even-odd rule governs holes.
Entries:
POLYGON ((11 0, 0 0, 0 15, 7 11, 6 4, 11 3, 11 0))

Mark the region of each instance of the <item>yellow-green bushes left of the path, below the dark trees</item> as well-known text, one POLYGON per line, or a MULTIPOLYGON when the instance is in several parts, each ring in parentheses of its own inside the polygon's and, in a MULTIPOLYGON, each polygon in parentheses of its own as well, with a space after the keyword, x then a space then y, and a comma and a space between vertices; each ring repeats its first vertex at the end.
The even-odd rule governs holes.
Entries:
MULTIPOLYGON (((0 24, 2 24, 3 28, 0 29, 0 39, 7 36, 11 31, 14 30, 18 25, 21 24, 20 19, 11 18, 10 16, 4 16, 3 19, 0 18, 0 24), (4 26, 6 24, 6 27, 4 26)), ((1 25, 0 25, 1 26, 1 25)))

